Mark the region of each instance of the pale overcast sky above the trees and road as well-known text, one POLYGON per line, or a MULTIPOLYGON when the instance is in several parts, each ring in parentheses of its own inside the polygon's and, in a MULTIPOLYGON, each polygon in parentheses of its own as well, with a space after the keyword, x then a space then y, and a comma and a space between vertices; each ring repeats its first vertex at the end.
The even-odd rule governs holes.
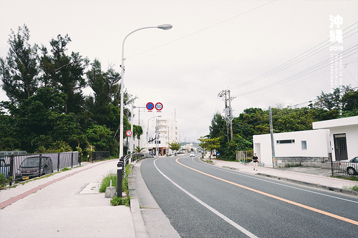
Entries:
POLYGON ((141 112, 143 126, 153 116, 175 116, 180 141, 196 141, 208 134, 214 113, 223 113, 222 90, 235 97, 234 116, 305 103, 330 92, 330 65, 319 63, 342 52, 342 82, 357 87, 357 22, 357 0, 0 0, 0 57, 7 56, 10 29, 26 24, 31 45, 49 47, 68 34, 69 52, 120 71, 128 33, 172 24, 127 38, 124 84, 138 97, 135 106, 163 104, 161 113, 141 112), (343 17, 340 28, 330 28, 330 15, 343 17), (340 29, 343 40, 333 45, 330 31, 340 29))

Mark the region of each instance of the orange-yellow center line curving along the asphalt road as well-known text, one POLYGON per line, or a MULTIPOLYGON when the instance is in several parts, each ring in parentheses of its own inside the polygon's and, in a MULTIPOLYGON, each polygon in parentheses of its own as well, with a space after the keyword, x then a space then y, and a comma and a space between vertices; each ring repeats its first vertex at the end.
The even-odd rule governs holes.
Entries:
POLYGON ((354 220, 351 220, 351 219, 348 219, 348 218, 345 218, 345 217, 341 217, 341 216, 338 216, 338 215, 335 215, 335 214, 332 214, 332 213, 329 213, 329 212, 325 212, 325 211, 322 211, 322 210, 319 210, 319 209, 316 209, 316 208, 313 208, 313 207, 310 207, 310 206, 306 206, 306 205, 303 205, 301 203, 297 203, 297 202, 293 202, 291 200, 287 200, 287 199, 284 199, 282 197, 277 197, 275 195, 272 195, 272 194, 269 194, 269 193, 266 193, 266 192, 262 192, 262 191, 259 191, 259 190, 256 190, 254 188, 251 188, 251 187, 247 187, 247 186, 244 186, 244 185, 241 185, 241 184, 238 184, 238 183, 235 183, 235 182, 232 182, 232 181, 228 181, 228 180, 225 180, 225 179, 221 179, 221 178, 218 178, 218 177, 215 177, 213 175, 209 175, 209 174, 206 174, 204 172, 201 172, 199 170, 195 170, 191 167, 188 167, 186 165, 183 165, 181 164, 179 161, 179 158, 176 159, 176 162, 181 165, 181 166, 184 166, 190 170, 193 170, 195 172, 198 172, 200 174, 203 174, 203 175, 206 175, 206 176, 209 176, 211 178, 214 178, 214 179, 218 179, 218 180, 221 180, 221 181, 224 181, 224 182, 227 182, 227 183, 230 183, 230 184, 233 184, 235 186, 238 186, 238 187, 242 187, 242 188, 245 188, 245 189, 248 189, 250 191, 253 191, 253 192, 257 192, 257 193, 260 193, 262 195, 265 195, 265 196, 268 196, 268 197, 272 197, 272 198, 275 198, 275 199, 278 199, 280 201, 283 201, 283 202, 287 202, 287 203, 290 203, 292 205, 296 205, 296 206, 299 206, 299 207, 302 207, 302 208, 306 208, 308 210, 311 210, 311 211, 314 211, 314 212, 318 212, 318 213, 321 213, 321 214, 324 214, 324 215, 327 215, 327 216, 330 216, 330 217, 334 217, 336 219, 339 219, 339 220, 342 220, 342 221, 345 221, 345 222, 349 222, 349 223, 352 223, 354 225, 358 225, 358 221, 354 221, 354 220))

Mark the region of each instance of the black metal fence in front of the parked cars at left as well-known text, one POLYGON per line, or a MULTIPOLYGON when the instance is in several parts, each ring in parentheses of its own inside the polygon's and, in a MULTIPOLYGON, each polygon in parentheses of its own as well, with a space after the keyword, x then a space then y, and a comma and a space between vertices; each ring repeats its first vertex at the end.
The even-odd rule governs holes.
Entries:
POLYGON ((0 155, 0 161, 0 173, 10 180, 10 185, 13 180, 39 177, 65 167, 81 165, 79 152, 0 155))

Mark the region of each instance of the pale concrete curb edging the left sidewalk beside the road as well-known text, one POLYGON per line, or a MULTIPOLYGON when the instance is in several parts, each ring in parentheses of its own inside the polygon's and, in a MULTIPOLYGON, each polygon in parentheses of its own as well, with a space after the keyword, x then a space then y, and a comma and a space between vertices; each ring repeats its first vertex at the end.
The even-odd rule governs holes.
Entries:
MULTIPOLYGON (((139 159, 142 160, 142 159, 139 159)), ((130 208, 132 213, 133 225, 134 225, 134 233, 136 238, 149 238, 147 229, 144 224, 144 220, 142 217, 142 213, 140 211, 139 201, 136 194, 136 189, 133 185, 133 178, 132 178, 132 170, 133 167, 137 164, 137 161, 134 161, 131 164, 131 169, 128 175, 128 190, 130 196, 130 208)))

